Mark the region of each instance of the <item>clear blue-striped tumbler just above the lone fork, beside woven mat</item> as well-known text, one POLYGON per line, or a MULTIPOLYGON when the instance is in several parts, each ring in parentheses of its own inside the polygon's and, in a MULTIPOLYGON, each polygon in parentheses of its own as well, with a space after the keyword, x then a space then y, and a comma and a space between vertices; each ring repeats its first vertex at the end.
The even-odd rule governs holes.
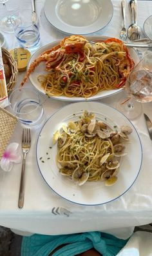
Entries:
POLYGON ((10 108, 23 126, 39 128, 45 120, 40 95, 30 87, 17 88, 9 97, 10 108))

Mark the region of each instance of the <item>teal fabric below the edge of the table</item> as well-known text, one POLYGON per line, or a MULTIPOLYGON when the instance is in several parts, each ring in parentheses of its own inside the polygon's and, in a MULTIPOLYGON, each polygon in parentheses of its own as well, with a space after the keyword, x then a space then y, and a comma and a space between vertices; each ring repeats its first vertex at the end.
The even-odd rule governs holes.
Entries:
POLYGON ((95 248, 103 256, 115 256, 125 246, 127 240, 119 239, 99 231, 70 235, 39 235, 23 237, 21 256, 48 256, 61 244, 68 244, 55 251, 53 256, 74 256, 95 248))

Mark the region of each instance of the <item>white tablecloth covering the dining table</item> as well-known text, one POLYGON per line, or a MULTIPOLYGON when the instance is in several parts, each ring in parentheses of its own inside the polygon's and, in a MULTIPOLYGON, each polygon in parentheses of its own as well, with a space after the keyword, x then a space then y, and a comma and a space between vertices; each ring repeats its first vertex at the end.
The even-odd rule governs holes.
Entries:
MULTIPOLYGON (((8 0, 9 2, 10 0, 8 0)), ((15 1, 15 0, 14 0, 15 1)), ((31 8, 31 1, 21 1, 23 7, 31 8)), ((120 37, 122 28, 121 1, 112 0, 113 17, 108 25, 91 35, 106 35, 108 37, 120 37)), ((41 46, 53 41, 61 40, 68 36, 50 25, 44 15, 44 0, 35 0, 35 9, 39 17, 39 30, 41 46)), ((138 1, 138 25, 141 27, 141 38, 146 37, 143 25, 146 18, 152 13, 152 1, 138 1)), ((0 9, 1 14, 1 9, 0 9)), ((131 23, 129 1, 126 1, 126 25, 131 23)), ((75 31, 73 31, 75 34, 75 31)), ((5 48, 12 50, 19 47, 14 33, 6 34, 5 48)), ((145 50, 136 48, 142 56, 145 50)), ((15 88, 19 87, 25 72, 19 72, 15 88)), ((30 80, 24 86, 32 86, 30 80)), ((33 87, 34 88, 34 87, 33 87)), ((36 90, 36 89, 35 89, 36 90)), ((46 120, 57 110, 63 108, 69 101, 59 101, 40 94, 46 115, 46 120)), ((121 90, 117 94, 109 95, 97 102, 116 107, 125 92, 121 90)), ((99 205, 81 205, 67 201, 46 184, 36 159, 37 139, 41 128, 31 129, 32 143, 26 157, 26 173, 24 184, 24 206, 18 208, 19 185, 21 179, 21 162, 14 164, 10 172, 0 170, 0 225, 10 228, 20 235, 32 235, 39 233, 44 235, 60 235, 68 233, 80 233, 85 231, 104 231, 120 238, 128 238, 135 226, 152 222, 152 141, 149 138, 144 113, 152 120, 152 103, 141 103, 142 113, 136 119, 131 120, 138 132, 142 143, 142 166, 136 181, 131 188, 114 201, 99 205)), ((6 110, 10 111, 7 106, 6 110)), ((52 127, 50 127, 52 129, 52 127)), ((15 127, 10 139, 19 143, 21 151, 22 126, 15 127)), ((137 161, 136 155, 134 161, 137 161)))

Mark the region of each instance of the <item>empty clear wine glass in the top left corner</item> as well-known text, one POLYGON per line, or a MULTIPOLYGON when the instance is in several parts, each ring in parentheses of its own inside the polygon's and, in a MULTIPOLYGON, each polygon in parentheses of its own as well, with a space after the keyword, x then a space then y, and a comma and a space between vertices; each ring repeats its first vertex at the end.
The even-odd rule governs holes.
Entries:
POLYGON ((12 3, 12 1, 8 1, 8 0, 0 0, 0 10, 1 13, 6 13, 7 15, 5 15, 1 20, 0 20, 0 29, 3 30, 4 32, 7 33, 13 33, 14 32, 14 28, 12 26, 12 22, 11 20, 17 19, 17 2, 12 3), (8 8, 6 7, 6 2, 8 2, 8 8), (3 8, 2 5, 3 5, 3 8))

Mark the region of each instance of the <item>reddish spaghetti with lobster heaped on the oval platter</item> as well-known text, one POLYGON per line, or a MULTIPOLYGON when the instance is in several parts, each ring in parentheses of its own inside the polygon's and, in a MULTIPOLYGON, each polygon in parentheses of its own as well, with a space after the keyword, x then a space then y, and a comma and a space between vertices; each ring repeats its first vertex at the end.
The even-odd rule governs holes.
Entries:
POLYGON ((50 50, 46 75, 39 75, 47 95, 91 97, 102 90, 120 88, 133 68, 126 46, 119 39, 91 44, 71 35, 50 50))

